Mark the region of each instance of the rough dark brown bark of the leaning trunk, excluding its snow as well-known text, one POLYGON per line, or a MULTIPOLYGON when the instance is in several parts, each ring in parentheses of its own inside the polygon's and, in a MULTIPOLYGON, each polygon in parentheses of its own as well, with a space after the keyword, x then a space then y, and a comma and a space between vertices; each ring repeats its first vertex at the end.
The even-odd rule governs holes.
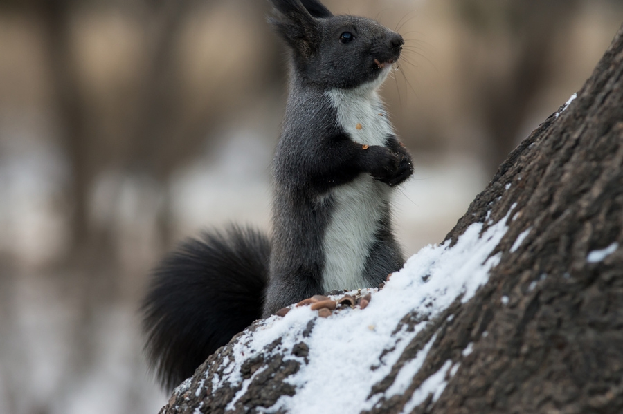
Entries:
MULTIPOLYGON (((433 339, 422 368, 404 393, 381 397, 368 412, 403 411, 449 360, 460 366, 446 376, 443 393, 408 411, 623 412, 623 27, 577 98, 509 155, 446 240, 456 243, 473 223, 485 223, 484 232, 500 220, 507 232, 491 253, 500 261, 488 282, 428 322, 373 391, 387 390, 433 339), (593 260, 590 252, 606 247, 593 260)), ((403 318, 408 326, 421 321, 403 318)), ((297 392, 285 379, 304 363, 270 349, 242 365, 242 378, 263 369, 248 388, 213 388, 237 339, 199 367, 161 413, 259 412, 297 392)), ((307 358, 305 332, 300 341, 290 352, 307 358)))

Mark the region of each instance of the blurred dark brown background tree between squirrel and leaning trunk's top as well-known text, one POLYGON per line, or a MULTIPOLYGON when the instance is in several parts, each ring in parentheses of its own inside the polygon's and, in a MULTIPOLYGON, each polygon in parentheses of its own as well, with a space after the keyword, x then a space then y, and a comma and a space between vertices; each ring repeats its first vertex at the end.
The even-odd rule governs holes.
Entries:
POLYGON ((469 109, 485 129, 491 173, 520 140, 534 98, 559 68, 550 57, 577 0, 456 0, 476 45, 461 48, 469 109), (476 104, 474 104, 474 102, 476 104))

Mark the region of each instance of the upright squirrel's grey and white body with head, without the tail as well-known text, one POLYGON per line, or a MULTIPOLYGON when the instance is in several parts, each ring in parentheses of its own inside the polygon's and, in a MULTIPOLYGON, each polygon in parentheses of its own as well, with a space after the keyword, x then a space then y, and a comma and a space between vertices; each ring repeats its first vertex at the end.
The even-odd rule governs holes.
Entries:
POLYGON ((363 17, 314 18, 299 1, 273 3, 291 79, 273 160, 264 316, 313 294, 378 285, 399 270, 390 196, 413 171, 377 94, 401 37, 363 17), (343 32, 354 39, 343 43, 343 32))

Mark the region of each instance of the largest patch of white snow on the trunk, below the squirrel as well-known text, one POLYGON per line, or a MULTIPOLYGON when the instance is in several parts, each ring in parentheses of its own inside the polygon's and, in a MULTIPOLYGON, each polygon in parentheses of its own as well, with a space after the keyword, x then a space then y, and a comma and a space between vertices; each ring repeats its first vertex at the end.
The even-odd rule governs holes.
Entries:
MULTIPOLYGON (((347 308, 328 318, 319 318, 309 307, 300 307, 292 308, 285 317, 265 319, 254 332, 244 332, 234 344, 233 360, 229 361, 222 378, 213 384, 242 382, 242 391, 237 396, 242 395, 253 379, 242 379, 240 367, 244 361, 266 353, 265 347, 276 340, 280 340, 280 344, 273 352, 288 355, 301 340, 300 335, 309 321, 314 320, 314 328, 304 339, 309 346, 309 363, 302 364, 298 372, 287 379, 296 386, 296 394, 281 397, 269 411, 316 413, 325 411, 327 406, 334 412, 371 409, 381 398, 381 395, 368 398, 372 387, 390 373, 410 341, 456 299, 466 303, 487 283, 489 272, 500 261, 501 253, 491 256, 491 252, 507 231, 505 223, 509 214, 510 211, 484 232, 482 223, 472 224, 452 247, 450 241, 446 241, 422 248, 408 259, 402 270, 392 275, 383 290, 369 290, 372 301, 365 310, 347 308), (394 333, 408 312, 416 312, 425 321, 411 330, 404 327, 394 333), (330 367, 340 369, 332 371, 330 367), (329 377, 332 380, 327 380, 329 377), (323 397, 318 398, 318 395, 323 397), (344 395, 349 397, 345 399, 344 395)), ((406 389, 405 384, 408 386, 408 379, 417 374, 434 339, 401 369, 386 397, 406 389)), ((294 355, 285 359, 300 361, 294 355)), ((417 395, 426 398, 428 393, 435 393, 436 401, 445 387, 444 376, 451 366, 452 362, 447 361, 440 371, 426 379, 417 395)), ((411 404, 418 398, 414 396, 411 404)))

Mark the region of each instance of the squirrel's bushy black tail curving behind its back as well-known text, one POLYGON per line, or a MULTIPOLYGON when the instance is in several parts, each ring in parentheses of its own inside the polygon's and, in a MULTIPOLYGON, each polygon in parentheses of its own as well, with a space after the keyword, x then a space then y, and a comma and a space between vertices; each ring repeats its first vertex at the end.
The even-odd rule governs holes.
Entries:
POLYGON ((156 268, 143 301, 145 349, 172 389, 217 348, 262 316, 270 243, 230 227, 190 239, 156 268))

